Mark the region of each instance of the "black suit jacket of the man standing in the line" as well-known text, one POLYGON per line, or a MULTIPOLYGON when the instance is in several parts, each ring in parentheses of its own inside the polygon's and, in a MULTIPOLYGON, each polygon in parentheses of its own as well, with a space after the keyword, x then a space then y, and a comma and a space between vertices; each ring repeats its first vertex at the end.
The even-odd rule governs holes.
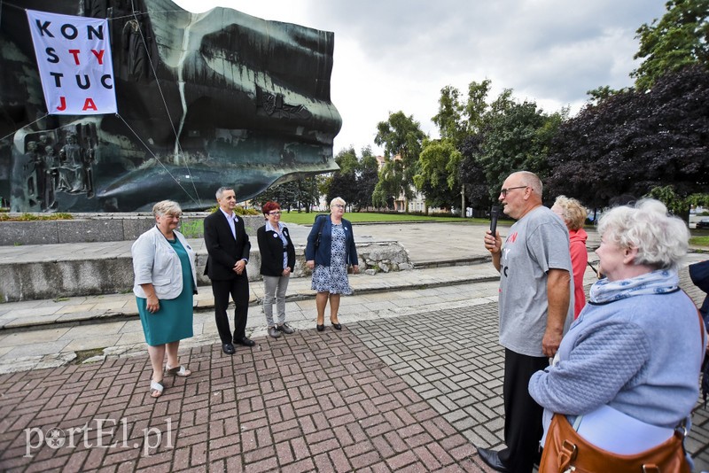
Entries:
POLYGON ((244 220, 236 217, 234 222, 237 238, 231 235, 229 222, 220 209, 205 219, 205 244, 209 256, 205 274, 209 279, 234 279, 234 265, 238 260, 249 259, 251 242, 246 235, 244 220))

